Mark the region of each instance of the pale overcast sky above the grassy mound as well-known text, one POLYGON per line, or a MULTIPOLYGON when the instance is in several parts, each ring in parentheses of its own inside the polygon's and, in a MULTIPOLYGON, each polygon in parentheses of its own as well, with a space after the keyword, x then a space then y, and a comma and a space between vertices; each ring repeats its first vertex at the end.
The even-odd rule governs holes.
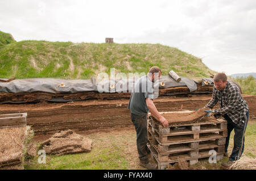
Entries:
POLYGON ((256 1, 0 1, 16 41, 160 43, 226 74, 256 72, 256 1))

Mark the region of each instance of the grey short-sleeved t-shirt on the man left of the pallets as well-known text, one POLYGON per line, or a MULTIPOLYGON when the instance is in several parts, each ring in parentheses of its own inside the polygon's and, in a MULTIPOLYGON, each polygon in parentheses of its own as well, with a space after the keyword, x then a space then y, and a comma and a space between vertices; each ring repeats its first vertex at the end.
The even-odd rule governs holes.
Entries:
POLYGON ((139 78, 131 92, 128 109, 135 115, 144 115, 148 112, 146 98, 154 99, 154 83, 148 79, 147 75, 139 78))

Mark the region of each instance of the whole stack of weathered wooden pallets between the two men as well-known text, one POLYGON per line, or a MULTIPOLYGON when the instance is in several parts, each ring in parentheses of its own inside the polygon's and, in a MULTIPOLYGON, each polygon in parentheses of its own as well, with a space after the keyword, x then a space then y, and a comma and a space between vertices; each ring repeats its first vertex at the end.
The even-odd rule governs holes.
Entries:
POLYGON ((217 161, 223 159, 227 136, 225 120, 204 117, 196 123, 175 123, 164 128, 150 117, 147 126, 147 146, 151 157, 158 162, 158 169, 166 169, 180 159, 193 165, 200 158, 209 158, 214 153, 217 161))

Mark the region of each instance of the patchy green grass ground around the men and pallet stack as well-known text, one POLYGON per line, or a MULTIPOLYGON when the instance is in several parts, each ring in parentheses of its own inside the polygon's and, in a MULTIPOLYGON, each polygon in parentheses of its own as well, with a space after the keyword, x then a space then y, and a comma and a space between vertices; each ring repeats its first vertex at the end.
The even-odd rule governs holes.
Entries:
MULTIPOLYGON (((229 153, 233 148, 232 132, 229 153)), ((244 155, 255 158, 256 156, 256 120, 250 120, 245 134, 244 155)), ((143 169, 139 166, 136 132, 134 128, 110 130, 86 135, 92 139, 92 151, 71 155, 47 155, 46 164, 39 164, 38 158, 26 162, 25 169, 143 169)), ((200 161, 195 166, 197 169, 221 169, 222 162, 228 161, 224 157, 217 164, 210 164, 208 160, 200 161)))

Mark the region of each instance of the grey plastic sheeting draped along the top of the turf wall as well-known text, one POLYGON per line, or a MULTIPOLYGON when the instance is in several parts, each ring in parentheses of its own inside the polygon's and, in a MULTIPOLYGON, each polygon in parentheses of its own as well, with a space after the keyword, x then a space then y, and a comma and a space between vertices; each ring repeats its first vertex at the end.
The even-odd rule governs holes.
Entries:
MULTIPOLYGON (((53 94, 75 94, 86 91, 98 92, 131 92, 134 82, 137 79, 55 79, 55 78, 29 78, 15 79, 11 82, 0 82, 0 92, 20 93, 20 92, 49 92, 53 94)), ((197 89, 196 82, 187 77, 181 77, 180 82, 176 82, 170 75, 162 75, 155 85, 159 84, 159 89, 168 87, 187 86, 190 92, 197 89), (164 82, 164 86, 161 83, 164 82)))

